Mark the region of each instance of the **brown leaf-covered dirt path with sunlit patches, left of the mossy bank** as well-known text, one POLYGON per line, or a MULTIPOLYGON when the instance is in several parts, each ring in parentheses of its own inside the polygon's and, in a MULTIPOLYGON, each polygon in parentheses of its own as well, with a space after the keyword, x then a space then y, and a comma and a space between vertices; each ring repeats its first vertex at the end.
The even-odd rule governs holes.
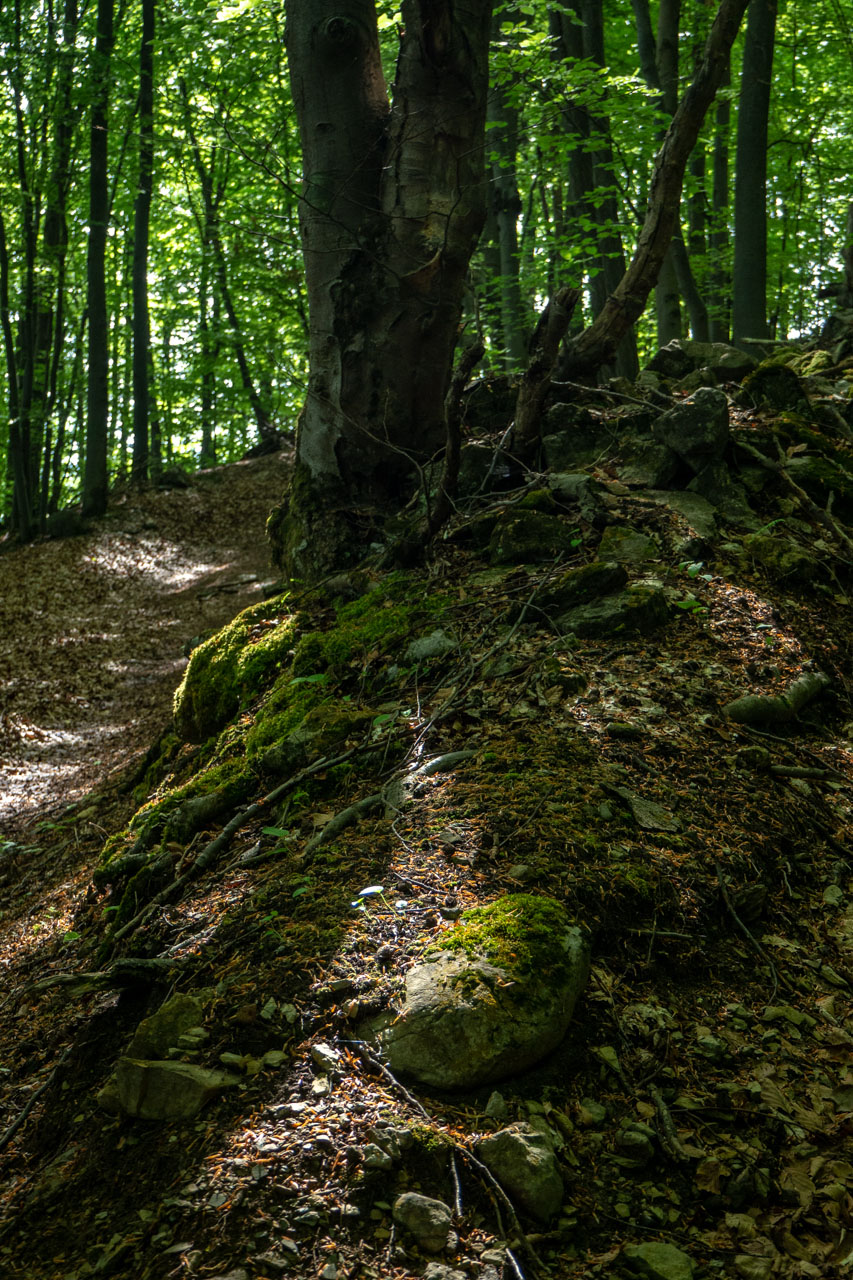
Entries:
POLYGON ((86 536, 0 556, 0 837, 127 768, 168 722, 188 640, 260 598, 288 458, 126 494, 86 536))

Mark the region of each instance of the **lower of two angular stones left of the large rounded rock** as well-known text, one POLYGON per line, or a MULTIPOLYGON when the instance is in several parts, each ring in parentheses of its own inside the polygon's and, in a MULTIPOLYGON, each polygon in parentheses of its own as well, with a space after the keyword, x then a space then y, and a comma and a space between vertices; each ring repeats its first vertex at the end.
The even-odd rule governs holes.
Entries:
POLYGON ((240 1084, 227 1071, 209 1071, 192 1062, 134 1057, 119 1059, 115 1080, 122 1110, 140 1120, 188 1120, 222 1089, 240 1084))

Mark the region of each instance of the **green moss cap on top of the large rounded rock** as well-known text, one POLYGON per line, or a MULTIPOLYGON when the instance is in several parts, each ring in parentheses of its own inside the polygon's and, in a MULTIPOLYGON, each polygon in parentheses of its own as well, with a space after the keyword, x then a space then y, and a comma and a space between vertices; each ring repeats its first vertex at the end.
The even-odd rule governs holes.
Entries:
POLYGON ((514 974, 560 980, 566 973, 566 960, 555 940, 565 933, 567 924, 566 911, 553 899, 510 893, 462 913, 456 928, 433 943, 426 956, 438 951, 455 951, 469 959, 485 956, 514 974))

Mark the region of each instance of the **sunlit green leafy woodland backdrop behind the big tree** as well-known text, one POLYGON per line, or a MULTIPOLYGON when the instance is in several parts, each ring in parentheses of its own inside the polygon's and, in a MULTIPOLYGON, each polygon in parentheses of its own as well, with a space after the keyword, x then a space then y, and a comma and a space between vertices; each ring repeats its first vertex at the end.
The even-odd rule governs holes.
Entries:
MULTIPOLYGON (((400 6, 375 8, 391 82, 400 6)), ((715 13, 496 10, 485 224, 462 302, 482 371, 524 367, 558 289, 579 291, 575 326, 612 293, 715 13)), ((115 481, 293 431, 309 376, 302 157, 280 4, 14 0, 0 67, 0 492, 4 530, 31 538, 69 504, 101 511, 115 481)), ((852 81, 840 0, 752 0, 656 305, 613 371, 674 337, 731 338, 733 303, 740 339, 797 335, 838 305, 852 81)))

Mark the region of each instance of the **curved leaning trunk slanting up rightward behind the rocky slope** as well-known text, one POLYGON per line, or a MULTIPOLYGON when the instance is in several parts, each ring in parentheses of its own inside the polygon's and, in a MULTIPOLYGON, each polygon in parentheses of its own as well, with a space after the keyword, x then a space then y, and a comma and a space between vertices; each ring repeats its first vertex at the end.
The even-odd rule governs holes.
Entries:
MULTIPOLYGON (((610 358, 616 343, 643 308, 654 287, 663 256, 678 223, 684 170, 702 128, 706 111, 729 64, 729 50, 738 33, 748 0, 721 0, 704 47, 702 64, 679 102, 672 124, 654 161, 649 207, 637 252, 602 314, 569 349, 565 362, 571 372, 588 372, 610 358)), ((564 362, 561 362, 561 372, 564 362)))

